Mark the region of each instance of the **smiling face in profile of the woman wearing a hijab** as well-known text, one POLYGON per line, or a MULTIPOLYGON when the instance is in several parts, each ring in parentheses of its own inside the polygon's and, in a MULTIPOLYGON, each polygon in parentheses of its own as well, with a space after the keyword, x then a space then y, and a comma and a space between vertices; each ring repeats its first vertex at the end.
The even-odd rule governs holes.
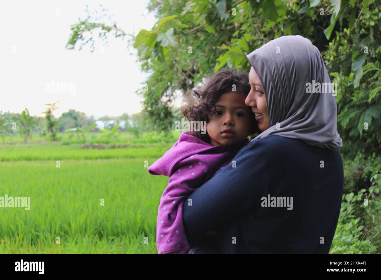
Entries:
POLYGON ((245 104, 251 106, 251 110, 255 113, 255 119, 258 121, 258 127, 261 131, 269 128, 269 116, 267 115, 266 96, 253 67, 250 69, 249 82, 251 90, 245 99, 245 104))

